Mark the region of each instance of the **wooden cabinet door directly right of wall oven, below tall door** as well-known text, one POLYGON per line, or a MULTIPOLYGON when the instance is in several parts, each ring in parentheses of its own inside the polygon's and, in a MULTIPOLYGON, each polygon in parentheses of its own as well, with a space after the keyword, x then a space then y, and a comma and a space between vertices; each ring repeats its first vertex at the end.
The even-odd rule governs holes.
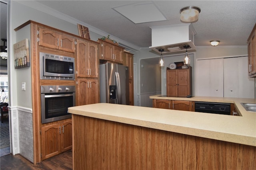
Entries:
POLYGON ((86 78, 78 78, 77 80, 77 93, 76 93, 76 106, 86 104, 88 90, 88 80, 86 78))

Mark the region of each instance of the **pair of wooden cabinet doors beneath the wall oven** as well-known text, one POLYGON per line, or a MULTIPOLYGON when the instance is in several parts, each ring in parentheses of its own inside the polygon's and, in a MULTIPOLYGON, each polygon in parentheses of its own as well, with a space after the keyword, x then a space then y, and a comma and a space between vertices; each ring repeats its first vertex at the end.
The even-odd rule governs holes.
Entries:
POLYGON ((42 127, 42 160, 72 149, 72 121, 42 127))

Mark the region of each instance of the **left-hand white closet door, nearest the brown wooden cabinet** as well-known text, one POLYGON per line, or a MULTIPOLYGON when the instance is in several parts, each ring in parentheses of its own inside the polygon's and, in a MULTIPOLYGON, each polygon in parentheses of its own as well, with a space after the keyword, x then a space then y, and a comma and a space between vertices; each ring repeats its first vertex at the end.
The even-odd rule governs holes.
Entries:
POLYGON ((223 97, 223 59, 197 61, 197 96, 223 97))

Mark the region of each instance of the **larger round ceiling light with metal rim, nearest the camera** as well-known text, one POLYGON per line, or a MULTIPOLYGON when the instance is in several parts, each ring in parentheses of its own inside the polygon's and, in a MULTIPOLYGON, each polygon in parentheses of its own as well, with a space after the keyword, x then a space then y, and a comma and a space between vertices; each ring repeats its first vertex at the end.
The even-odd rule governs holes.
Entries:
POLYGON ((194 23, 198 21, 201 9, 196 6, 186 6, 180 10, 180 21, 184 23, 194 23))

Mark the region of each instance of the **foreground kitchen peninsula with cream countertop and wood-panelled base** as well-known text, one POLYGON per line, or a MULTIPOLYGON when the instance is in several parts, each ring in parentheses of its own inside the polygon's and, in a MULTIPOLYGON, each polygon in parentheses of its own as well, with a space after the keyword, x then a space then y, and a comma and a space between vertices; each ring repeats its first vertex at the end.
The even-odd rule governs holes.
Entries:
POLYGON ((253 169, 256 114, 92 104, 69 107, 73 169, 253 169))

